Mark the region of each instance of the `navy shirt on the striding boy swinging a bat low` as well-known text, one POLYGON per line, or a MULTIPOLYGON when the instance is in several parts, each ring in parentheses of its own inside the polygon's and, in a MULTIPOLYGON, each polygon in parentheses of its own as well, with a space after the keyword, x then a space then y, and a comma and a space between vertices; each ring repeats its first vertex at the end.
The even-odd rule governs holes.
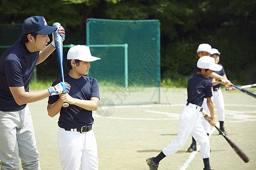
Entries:
POLYGON ((212 79, 194 74, 188 79, 187 93, 187 102, 201 107, 204 98, 212 97, 212 79))

